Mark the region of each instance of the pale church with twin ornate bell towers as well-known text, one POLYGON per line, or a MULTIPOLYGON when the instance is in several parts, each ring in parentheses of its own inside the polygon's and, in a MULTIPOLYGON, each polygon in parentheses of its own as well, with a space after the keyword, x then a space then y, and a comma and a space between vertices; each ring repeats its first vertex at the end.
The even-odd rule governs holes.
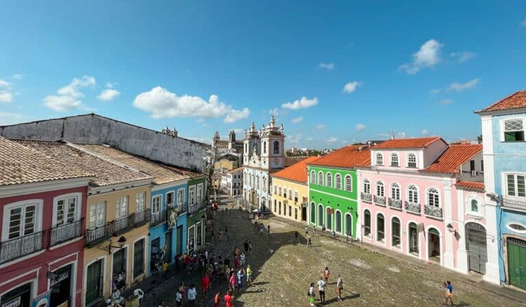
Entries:
POLYGON ((260 130, 252 123, 245 132, 243 149, 243 199, 258 209, 271 208, 270 174, 285 167, 285 134, 274 116, 260 130))

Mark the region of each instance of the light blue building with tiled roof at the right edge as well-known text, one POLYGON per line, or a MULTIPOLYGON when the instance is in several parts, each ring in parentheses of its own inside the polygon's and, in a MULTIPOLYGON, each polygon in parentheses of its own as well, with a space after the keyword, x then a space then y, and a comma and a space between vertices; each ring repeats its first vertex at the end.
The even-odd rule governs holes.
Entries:
POLYGON ((482 123, 486 195, 495 211, 499 280, 526 290, 526 90, 476 113, 482 123))

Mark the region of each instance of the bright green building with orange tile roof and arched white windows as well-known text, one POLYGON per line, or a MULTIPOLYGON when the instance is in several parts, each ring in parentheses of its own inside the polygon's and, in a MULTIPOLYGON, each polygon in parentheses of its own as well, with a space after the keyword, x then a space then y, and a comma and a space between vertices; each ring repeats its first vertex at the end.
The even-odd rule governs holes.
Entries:
POLYGON ((357 238, 356 166, 369 164, 366 145, 346 146, 308 164, 309 225, 357 238))

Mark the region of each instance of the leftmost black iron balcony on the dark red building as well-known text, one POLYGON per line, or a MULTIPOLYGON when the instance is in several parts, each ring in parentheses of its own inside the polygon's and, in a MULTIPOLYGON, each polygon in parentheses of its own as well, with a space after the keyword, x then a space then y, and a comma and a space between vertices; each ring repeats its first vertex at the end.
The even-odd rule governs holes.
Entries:
POLYGON ((42 234, 43 232, 35 232, 0 243, 0 264, 45 249, 42 234))

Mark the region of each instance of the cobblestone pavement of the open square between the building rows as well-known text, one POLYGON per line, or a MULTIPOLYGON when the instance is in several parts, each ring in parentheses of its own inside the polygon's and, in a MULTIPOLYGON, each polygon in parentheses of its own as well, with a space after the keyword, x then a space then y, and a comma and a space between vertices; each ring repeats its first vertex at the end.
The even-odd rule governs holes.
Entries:
MULTIPOLYGON (((441 282, 445 279, 453 284, 455 306, 525 306, 524 302, 455 278, 456 273, 412 265, 327 236, 314 236, 313 247, 307 247, 303 237, 300 244, 295 245, 294 232, 298 228, 275 219, 262 220, 265 227, 270 223, 271 234, 258 234, 247 212, 218 212, 214 228, 224 230, 227 222, 230 234, 222 241, 216 238, 210 245, 213 254, 231 258, 232 248, 242 247, 245 239, 253 245, 253 254, 247 256, 247 264, 253 269, 253 286, 247 288, 244 284, 240 295, 236 295, 236 307, 309 306, 308 286, 310 282, 317 282, 326 266, 331 270, 327 302, 321 304, 317 300, 317 306, 442 306, 441 282), (345 285, 342 302, 336 301, 338 274, 342 275, 345 285)), ((195 282, 199 293, 198 280, 197 275, 176 275, 147 293, 141 306, 157 306, 161 299, 167 306, 175 306, 174 293, 179 282, 187 285, 195 282)), ((197 306, 213 306, 212 295, 218 290, 225 293, 226 289, 226 281, 214 280, 212 293, 197 306)), ((200 298, 198 296, 198 301, 200 298)))

